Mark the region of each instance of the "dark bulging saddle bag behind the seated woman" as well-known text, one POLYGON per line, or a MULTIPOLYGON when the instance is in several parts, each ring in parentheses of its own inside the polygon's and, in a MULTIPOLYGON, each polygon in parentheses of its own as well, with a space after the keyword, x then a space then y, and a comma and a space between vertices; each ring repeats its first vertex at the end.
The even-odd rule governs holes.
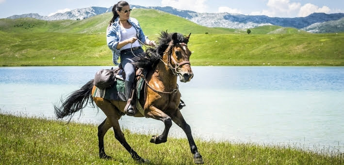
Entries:
POLYGON ((113 68, 99 70, 94 78, 93 84, 99 89, 105 89, 116 81, 113 68))

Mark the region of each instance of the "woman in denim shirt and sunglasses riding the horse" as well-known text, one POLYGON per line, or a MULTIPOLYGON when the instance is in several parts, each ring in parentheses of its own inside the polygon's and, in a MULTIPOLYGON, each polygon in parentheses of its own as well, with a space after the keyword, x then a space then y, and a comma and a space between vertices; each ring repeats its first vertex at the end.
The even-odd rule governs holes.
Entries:
MULTIPOLYGON (((135 66, 131 64, 131 59, 135 54, 144 52, 138 40, 145 45, 156 46, 154 41, 150 41, 143 33, 139 22, 130 17, 131 8, 128 2, 119 1, 112 8, 113 18, 107 28, 107 43, 113 51, 113 63, 118 65, 118 57, 121 57, 121 66, 126 73, 125 78, 125 98, 130 98, 131 88, 135 78, 135 66), (132 49, 132 52, 131 52, 132 49)), ((134 105, 127 105, 127 115, 135 115, 134 105)))

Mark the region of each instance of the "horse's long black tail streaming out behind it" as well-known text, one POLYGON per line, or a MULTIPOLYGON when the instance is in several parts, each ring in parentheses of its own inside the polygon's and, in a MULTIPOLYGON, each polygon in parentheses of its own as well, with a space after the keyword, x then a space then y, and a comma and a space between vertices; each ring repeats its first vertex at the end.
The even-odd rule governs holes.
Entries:
MULTIPOLYGON (((79 90, 76 90, 73 93, 71 93, 65 100, 61 98, 61 106, 54 104, 56 117, 64 118, 68 116, 69 123, 74 113, 82 110, 82 108, 85 108, 88 102, 91 103, 93 107, 95 107, 91 95, 93 81, 94 80, 90 80, 89 82, 84 84, 79 90)), ((80 111, 80 115, 81 112, 82 111, 80 111)))

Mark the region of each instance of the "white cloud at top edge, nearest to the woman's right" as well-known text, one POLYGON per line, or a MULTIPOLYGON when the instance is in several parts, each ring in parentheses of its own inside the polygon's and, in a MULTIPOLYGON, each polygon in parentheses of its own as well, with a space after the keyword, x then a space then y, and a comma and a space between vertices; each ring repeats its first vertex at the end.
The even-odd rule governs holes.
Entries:
POLYGON ((204 4, 206 0, 162 0, 162 6, 171 6, 181 10, 191 10, 198 13, 204 13, 207 6, 204 4))

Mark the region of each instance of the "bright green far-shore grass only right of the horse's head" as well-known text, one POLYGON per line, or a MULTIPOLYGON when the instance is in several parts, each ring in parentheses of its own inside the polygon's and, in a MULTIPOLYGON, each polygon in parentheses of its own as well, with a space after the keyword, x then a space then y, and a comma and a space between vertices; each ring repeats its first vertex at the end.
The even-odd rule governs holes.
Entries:
POLYGON ((193 37, 197 38, 190 45, 195 51, 192 56, 195 65, 344 65, 344 33, 193 37), (207 42, 200 42, 203 40, 207 42))

